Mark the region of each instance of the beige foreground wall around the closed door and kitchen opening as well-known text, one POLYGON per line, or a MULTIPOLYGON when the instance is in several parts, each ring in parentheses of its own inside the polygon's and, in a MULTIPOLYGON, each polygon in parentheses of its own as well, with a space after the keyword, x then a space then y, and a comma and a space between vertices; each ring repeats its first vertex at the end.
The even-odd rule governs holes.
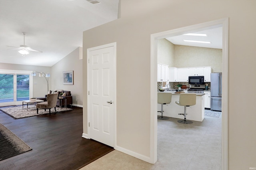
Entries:
MULTIPOLYGON (((248 95, 242 90, 237 91, 240 89, 237 77, 256 83, 252 71, 256 63, 253 57, 256 53, 255 6, 255 0, 121 0, 120 19, 84 31, 85 51, 90 47, 117 42, 118 146, 142 157, 149 157, 152 151, 150 35, 228 17, 228 164, 230 170, 256 167, 256 124, 248 123, 248 119, 256 119, 256 92, 250 91, 248 95)), ((83 56, 86 58, 86 52, 83 56)), ((87 133, 86 70, 87 63, 83 61, 84 133, 87 133)))

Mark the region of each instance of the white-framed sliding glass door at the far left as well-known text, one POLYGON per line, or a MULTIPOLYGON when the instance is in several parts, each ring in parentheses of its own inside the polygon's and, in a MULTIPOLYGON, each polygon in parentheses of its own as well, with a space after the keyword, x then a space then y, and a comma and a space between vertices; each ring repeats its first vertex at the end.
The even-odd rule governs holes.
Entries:
POLYGON ((0 70, 0 106, 22 104, 32 97, 31 71, 0 70))

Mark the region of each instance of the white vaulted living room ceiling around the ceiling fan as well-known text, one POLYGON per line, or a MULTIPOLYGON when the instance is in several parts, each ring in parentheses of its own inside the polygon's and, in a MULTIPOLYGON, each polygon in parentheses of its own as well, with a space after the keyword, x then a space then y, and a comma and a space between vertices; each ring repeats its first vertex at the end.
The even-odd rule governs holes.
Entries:
POLYGON ((83 31, 117 19, 119 0, 0 0, 0 63, 52 66, 77 47, 83 31), (15 46, 43 51, 22 57, 15 46))

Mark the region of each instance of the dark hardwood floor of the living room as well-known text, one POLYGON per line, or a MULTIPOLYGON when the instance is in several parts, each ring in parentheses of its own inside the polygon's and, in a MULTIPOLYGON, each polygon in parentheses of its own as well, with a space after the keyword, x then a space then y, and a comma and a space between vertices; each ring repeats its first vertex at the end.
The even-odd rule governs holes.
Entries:
POLYGON ((32 150, 0 161, 0 170, 76 170, 114 150, 82 138, 82 108, 13 119, 0 111, 0 123, 32 150))

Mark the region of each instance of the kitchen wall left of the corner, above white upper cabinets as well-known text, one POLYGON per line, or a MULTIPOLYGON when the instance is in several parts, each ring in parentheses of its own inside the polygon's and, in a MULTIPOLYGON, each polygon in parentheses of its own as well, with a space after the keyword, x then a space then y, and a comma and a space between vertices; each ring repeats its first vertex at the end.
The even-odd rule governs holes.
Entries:
POLYGON ((158 63, 168 65, 169 67, 175 67, 174 44, 165 38, 158 40, 157 56, 158 63))

